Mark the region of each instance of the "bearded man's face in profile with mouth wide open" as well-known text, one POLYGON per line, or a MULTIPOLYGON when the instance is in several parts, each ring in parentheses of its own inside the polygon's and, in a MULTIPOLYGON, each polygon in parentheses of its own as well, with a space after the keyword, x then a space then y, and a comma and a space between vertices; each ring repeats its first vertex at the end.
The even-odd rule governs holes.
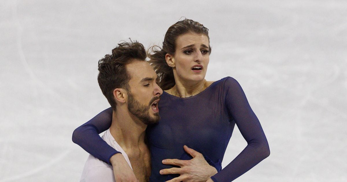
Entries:
POLYGON ((163 90, 156 84, 157 75, 149 63, 133 61, 126 65, 130 74, 128 110, 144 124, 159 121, 158 102, 163 90))

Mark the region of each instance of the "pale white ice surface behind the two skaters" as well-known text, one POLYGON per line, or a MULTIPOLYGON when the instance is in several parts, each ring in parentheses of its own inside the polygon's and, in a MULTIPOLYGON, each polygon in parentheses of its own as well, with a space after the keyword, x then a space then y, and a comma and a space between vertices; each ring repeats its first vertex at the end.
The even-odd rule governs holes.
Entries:
MULTIPOLYGON (((181 16, 210 29, 207 80, 236 78, 271 155, 239 177, 347 180, 347 1, 0 1, 0 181, 78 181, 73 130, 109 107, 97 62, 181 16)), ((223 167, 246 146, 237 128, 223 167)))

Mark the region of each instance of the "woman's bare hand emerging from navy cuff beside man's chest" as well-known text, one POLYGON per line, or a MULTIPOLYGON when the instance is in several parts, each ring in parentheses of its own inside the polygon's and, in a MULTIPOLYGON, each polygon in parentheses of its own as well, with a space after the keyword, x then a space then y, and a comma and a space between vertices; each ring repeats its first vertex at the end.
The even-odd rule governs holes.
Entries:
POLYGON ((117 182, 138 182, 133 170, 121 153, 117 153, 110 158, 113 167, 113 175, 117 182))

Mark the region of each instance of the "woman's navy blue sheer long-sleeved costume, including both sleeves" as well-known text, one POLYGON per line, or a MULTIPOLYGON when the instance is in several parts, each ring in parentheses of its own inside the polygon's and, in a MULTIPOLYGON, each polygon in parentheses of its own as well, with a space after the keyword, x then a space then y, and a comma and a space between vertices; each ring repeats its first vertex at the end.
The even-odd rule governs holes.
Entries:
MULTIPOLYGON (((109 118, 103 116, 107 112, 105 110, 100 116, 95 116, 73 134, 76 144, 106 162, 116 152, 97 135, 111 123, 110 113, 109 118)), ((183 145, 203 154, 206 161, 217 169, 218 173, 211 177, 215 182, 236 179, 270 154, 259 120, 234 78, 215 81, 192 97, 180 98, 164 92, 160 98, 159 113, 159 123, 149 125, 146 130, 152 160, 150 181, 167 181, 179 176, 161 175, 159 171, 172 167, 162 164, 163 159, 192 159, 183 145), (235 124, 247 146, 222 170, 221 162, 235 124)))

